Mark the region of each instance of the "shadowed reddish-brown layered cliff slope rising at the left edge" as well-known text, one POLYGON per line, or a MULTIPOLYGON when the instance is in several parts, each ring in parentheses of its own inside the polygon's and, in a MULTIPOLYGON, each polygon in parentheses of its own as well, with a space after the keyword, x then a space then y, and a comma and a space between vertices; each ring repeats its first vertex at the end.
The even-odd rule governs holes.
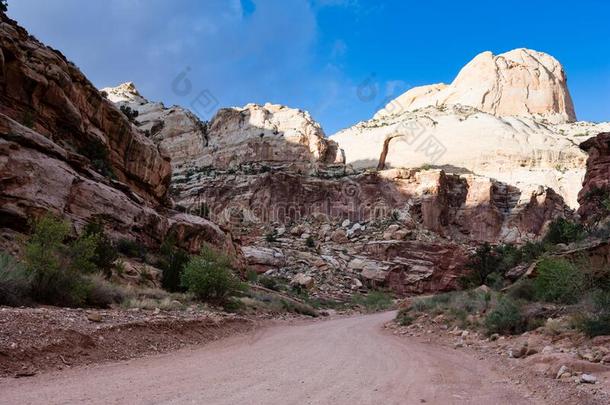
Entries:
POLYGON ((32 218, 52 212, 78 232, 93 219, 113 237, 191 251, 234 250, 212 222, 167 206, 169 156, 76 66, 0 13, 0 227, 12 249, 32 218))

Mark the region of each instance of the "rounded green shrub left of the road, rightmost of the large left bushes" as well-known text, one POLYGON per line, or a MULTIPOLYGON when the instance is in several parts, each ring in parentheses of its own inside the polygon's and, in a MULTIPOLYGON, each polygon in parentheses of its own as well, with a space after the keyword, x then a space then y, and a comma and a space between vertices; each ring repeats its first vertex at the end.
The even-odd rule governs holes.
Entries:
POLYGON ((231 271, 231 260, 208 247, 190 259, 182 273, 181 283, 197 298, 215 304, 222 304, 242 289, 231 271))

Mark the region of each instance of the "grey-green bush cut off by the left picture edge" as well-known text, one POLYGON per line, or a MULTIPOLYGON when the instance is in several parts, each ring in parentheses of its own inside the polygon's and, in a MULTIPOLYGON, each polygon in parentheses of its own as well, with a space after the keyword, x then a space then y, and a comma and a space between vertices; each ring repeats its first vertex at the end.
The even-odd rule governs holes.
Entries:
POLYGON ((0 305, 29 305, 30 283, 23 265, 12 256, 0 252, 0 305))

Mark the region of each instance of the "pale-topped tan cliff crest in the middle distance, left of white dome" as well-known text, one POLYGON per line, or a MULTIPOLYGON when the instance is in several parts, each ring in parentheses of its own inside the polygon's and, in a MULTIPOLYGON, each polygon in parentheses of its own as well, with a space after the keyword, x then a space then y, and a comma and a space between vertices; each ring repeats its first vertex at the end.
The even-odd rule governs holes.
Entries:
POLYGON ((343 163, 342 151, 305 111, 248 104, 223 108, 204 123, 180 107, 149 102, 132 83, 102 91, 119 106, 138 111, 137 125, 172 157, 178 180, 210 168, 253 165, 310 172, 343 163))

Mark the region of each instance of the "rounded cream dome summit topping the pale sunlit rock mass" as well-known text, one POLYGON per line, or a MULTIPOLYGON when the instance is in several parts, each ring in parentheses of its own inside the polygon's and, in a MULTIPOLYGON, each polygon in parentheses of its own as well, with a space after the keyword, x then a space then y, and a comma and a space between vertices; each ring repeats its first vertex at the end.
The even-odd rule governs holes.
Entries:
POLYGON ((561 64, 546 53, 523 48, 497 56, 482 52, 462 68, 450 85, 415 87, 393 100, 375 118, 451 105, 474 107, 498 117, 576 121, 561 64))

